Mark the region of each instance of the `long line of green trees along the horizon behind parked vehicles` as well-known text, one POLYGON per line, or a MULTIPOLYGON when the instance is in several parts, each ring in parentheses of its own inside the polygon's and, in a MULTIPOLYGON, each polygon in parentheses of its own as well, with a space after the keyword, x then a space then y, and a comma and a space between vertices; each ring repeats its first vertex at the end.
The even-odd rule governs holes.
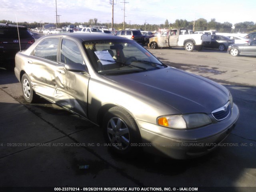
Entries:
MULTIPOLYGON (((8 24, 16 24, 16 22, 12 22, 9 20, 0 20, 0 23, 8 23, 8 24)), ((40 22, 18 22, 18 25, 26 26, 27 28, 42 28, 44 25, 49 23, 40 23, 40 22)), ((74 24, 75 26, 83 25, 83 26, 97 26, 102 28, 111 28, 111 23, 98 23, 98 19, 89 19, 88 22, 62 22, 57 24, 57 28, 66 27, 70 24, 74 24)), ((140 29, 140 30, 146 30, 146 31, 158 31, 161 29, 172 29, 172 28, 186 28, 186 29, 194 29, 195 31, 204 31, 204 30, 218 30, 218 32, 226 32, 226 33, 250 33, 256 31, 256 23, 252 21, 245 21, 240 22, 236 24, 232 24, 230 22, 224 22, 220 23, 217 22, 215 19, 211 19, 210 22, 208 22, 204 18, 200 18, 195 21, 187 21, 182 19, 175 20, 174 23, 168 22, 168 19, 163 24, 127 24, 125 25, 123 23, 114 24, 114 28, 116 30, 120 30, 124 28, 130 28, 130 29, 140 29)))

